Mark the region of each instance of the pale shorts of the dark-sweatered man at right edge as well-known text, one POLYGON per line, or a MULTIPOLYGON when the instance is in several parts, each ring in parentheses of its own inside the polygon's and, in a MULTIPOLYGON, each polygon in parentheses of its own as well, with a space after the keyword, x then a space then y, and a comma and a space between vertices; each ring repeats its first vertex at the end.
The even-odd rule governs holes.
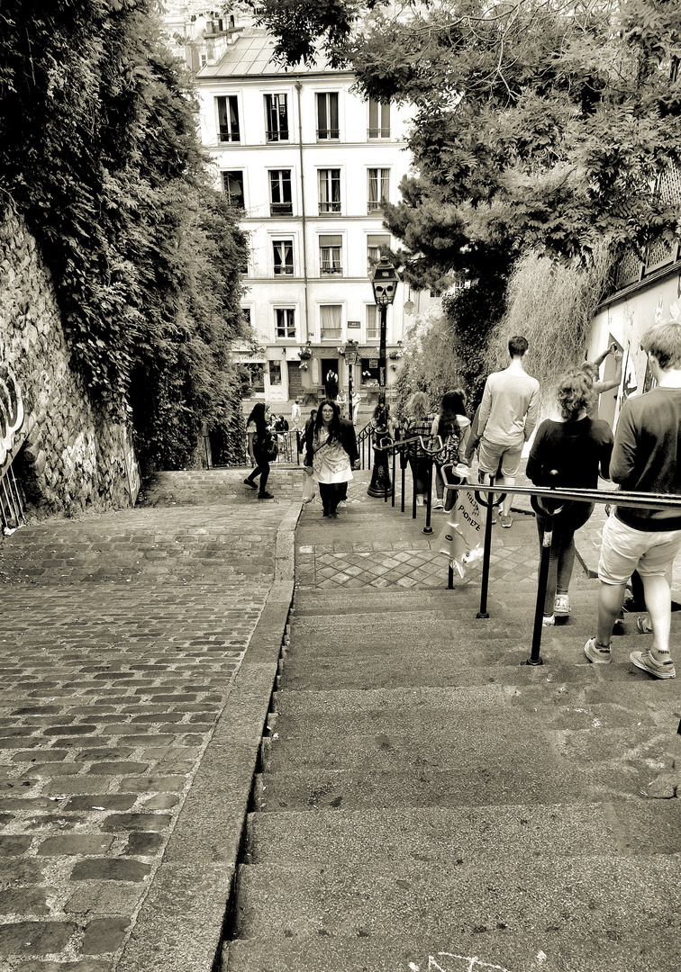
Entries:
POLYGON ((642 577, 663 577, 681 549, 681 530, 634 530, 614 512, 605 522, 598 561, 598 579, 626 584, 634 571, 642 577))

